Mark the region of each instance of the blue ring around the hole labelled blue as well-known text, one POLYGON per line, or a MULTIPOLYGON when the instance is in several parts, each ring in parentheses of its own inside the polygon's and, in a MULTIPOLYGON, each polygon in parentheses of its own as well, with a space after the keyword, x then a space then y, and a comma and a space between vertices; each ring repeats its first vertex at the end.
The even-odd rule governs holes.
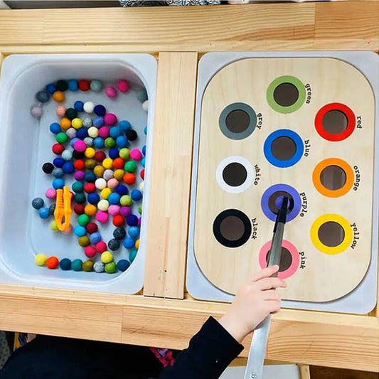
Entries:
POLYGON ((270 164, 273 164, 277 167, 289 167, 293 166, 294 164, 297 164, 297 162, 301 159, 301 156, 303 156, 304 153, 304 144, 303 140, 299 136, 299 134, 295 133, 293 130, 290 129, 278 129, 275 130, 275 132, 272 132, 269 134, 269 137, 267 137, 265 141, 265 145, 263 146, 263 152, 265 153, 267 161, 269 161, 270 164), (277 159, 274 154, 272 154, 271 151, 271 145, 272 142, 274 142, 275 139, 278 137, 288 137, 292 139, 292 141, 296 145, 296 151, 294 156, 292 156, 290 159, 277 159))

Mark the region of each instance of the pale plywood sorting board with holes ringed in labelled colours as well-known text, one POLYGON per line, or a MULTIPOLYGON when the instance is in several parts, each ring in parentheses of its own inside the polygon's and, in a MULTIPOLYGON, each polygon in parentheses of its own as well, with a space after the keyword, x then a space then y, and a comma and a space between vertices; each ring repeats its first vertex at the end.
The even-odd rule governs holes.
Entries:
MULTIPOLYGON (((260 269, 260 250, 271 240, 274 225, 262 212, 261 198, 270 186, 285 183, 300 194, 298 201, 295 198, 298 215, 284 231, 284 240, 292 244, 287 247, 294 250, 294 260, 297 257, 299 262, 289 269, 292 273, 287 277, 289 285, 283 298, 330 301, 351 292, 370 263, 373 136, 373 92, 365 77, 348 63, 331 58, 250 58, 221 69, 205 89, 201 110, 194 251, 205 277, 223 291, 235 293, 245 277, 260 269), (303 91, 304 85, 310 88, 304 104, 290 113, 273 109, 266 98, 270 83, 281 75, 298 78, 303 91), (257 114, 254 132, 239 140, 225 137, 219 127, 221 112, 235 102, 250 105, 257 114), (317 112, 333 102, 347 105, 356 115, 357 127, 340 142, 321 138, 315 128, 317 112), (299 161, 286 168, 274 166, 264 154, 266 139, 277 129, 297 132, 304 148, 299 161), (239 193, 230 193, 234 189, 225 187, 222 178, 216 180, 223 160, 230 156, 230 162, 241 156, 247 160, 242 162, 247 169, 246 182, 251 171, 250 186, 243 189, 242 185, 239 193), (346 179, 351 178, 351 187, 340 197, 324 196, 312 181, 316 165, 330 157, 343 159, 351 167, 351 176, 346 179), (358 179, 359 186, 354 191, 353 183, 358 179), (245 213, 250 228, 252 225, 247 242, 239 247, 222 245, 213 235, 216 217, 231 208, 245 213), (311 230, 316 235, 319 230, 312 225, 330 213, 336 216, 325 216, 322 223, 346 223, 342 250, 333 254, 316 245, 317 237, 311 237, 311 230)), ((348 167, 344 169, 348 173, 348 167)))

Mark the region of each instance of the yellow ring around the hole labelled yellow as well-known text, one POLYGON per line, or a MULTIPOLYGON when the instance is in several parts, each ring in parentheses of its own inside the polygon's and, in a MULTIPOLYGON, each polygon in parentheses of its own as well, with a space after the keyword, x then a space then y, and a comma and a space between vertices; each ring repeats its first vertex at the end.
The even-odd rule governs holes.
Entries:
POLYGON ((314 220, 314 223, 311 226, 311 240, 316 248, 321 252, 326 252, 326 254, 338 254, 339 252, 346 250, 349 245, 351 245, 351 241, 353 240, 353 230, 351 229, 351 225, 346 218, 341 215, 337 215, 336 213, 326 213, 325 215, 321 215, 319 218, 314 220), (343 232, 345 233, 343 241, 337 246, 326 246, 319 239, 319 228, 328 221, 334 221, 341 225, 343 232))

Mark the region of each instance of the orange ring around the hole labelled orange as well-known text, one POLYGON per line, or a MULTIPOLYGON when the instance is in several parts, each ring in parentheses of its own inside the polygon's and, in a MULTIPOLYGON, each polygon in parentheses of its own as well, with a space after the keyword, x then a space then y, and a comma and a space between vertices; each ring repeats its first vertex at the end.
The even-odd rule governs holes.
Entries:
POLYGON ((329 198, 338 198, 339 196, 346 195, 346 193, 351 190, 351 187, 353 187, 354 172, 353 169, 351 169, 351 166, 346 161, 343 161, 343 159, 328 158, 324 159, 324 161, 319 162, 319 164, 317 164, 317 166, 314 168, 312 180, 314 186, 316 187, 316 190, 319 191, 319 193, 324 196, 328 196, 329 198), (341 188, 331 190, 329 188, 326 188, 324 184, 321 183, 321 172, 328 166, 338 166, 341 167, 343 171, 345 171, 346 182, 341 188))

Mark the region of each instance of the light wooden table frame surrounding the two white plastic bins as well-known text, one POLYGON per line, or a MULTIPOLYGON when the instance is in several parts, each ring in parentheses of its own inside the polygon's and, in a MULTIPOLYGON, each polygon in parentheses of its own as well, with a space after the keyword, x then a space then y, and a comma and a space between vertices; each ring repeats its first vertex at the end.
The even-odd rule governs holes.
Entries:
MULTIPOLYGON (((184 289, 198 58, 321 49, 378 52, 379 3, 0 11, 0 63, 13 53, 148 52, 159 60, 144 294, 0 284, 0 329, 184 348, 210 314, 221 316, 228 305, 196 301, 184 289)), ((267 358, 379 372, 378 317, 378 309, 363 316, 283 309, 273 317, 267 358)))

